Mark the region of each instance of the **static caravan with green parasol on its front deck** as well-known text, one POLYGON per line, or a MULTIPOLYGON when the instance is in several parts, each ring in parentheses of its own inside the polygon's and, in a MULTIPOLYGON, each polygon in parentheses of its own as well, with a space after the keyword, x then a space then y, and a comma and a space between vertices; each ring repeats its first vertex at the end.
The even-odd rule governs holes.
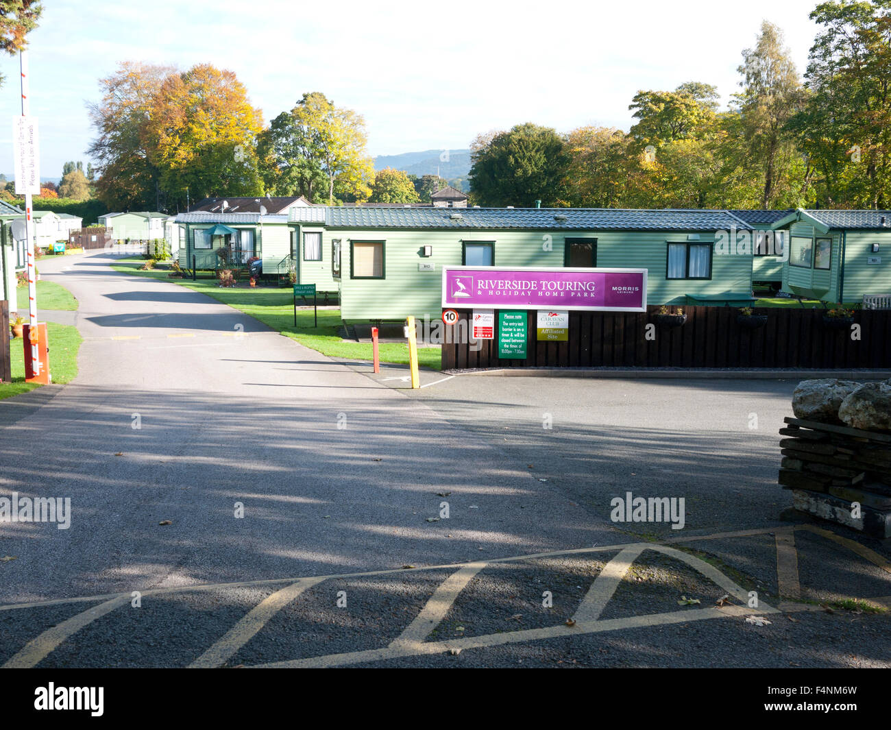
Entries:
POLYGON ((174 223, 179 226, 177 260, 182 267, 216 269, 220 258, 217 250, 229 250, 229 258, 245 267, 251 258, 263 260, 264 274, 274 273, 276 266, 290 251, 290 228, 287 216, 261 216, 258 213, 180 213, 174 223))

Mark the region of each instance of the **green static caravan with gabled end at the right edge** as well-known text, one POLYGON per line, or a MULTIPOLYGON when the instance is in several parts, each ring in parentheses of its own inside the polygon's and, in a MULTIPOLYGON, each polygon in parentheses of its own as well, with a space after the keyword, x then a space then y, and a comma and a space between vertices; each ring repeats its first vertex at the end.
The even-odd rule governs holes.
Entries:
POLYGON ((891 306, 891 211, 797 209, 773 226, 789 232, 783 291, 834 303, 891 306))

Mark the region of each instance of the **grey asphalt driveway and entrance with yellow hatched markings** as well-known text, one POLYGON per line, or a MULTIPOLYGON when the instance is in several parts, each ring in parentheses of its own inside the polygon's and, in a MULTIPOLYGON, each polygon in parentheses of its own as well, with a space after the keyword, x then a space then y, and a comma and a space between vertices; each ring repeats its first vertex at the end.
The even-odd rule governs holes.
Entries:
POLYGON ((428 373, 410 392, 109 260, 41 261, 80 302, 58 313, 80 374, 0 402, 0 492, 72 510, 0 523, 0 664, 891 664, 869 639, 887 616, 819 605, 891 595, 887 547, 780 520, 795 381, 428 373), (683 530, 612 521, 628 491, 683 497, 683 530))

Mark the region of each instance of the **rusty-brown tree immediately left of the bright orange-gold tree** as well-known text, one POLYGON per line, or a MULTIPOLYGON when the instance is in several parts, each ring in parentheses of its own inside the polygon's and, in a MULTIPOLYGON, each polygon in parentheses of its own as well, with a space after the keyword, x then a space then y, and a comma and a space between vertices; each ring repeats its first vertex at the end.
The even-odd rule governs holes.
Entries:
POLYGON ((159 169, 149 159, 145 127, 160 87, 173 70, 119 63, 113 74, 99 80, 102 99, 87 105, 96 130, 88 152, 98 161, 97 193, 111 210, 155 207, 159 169))

